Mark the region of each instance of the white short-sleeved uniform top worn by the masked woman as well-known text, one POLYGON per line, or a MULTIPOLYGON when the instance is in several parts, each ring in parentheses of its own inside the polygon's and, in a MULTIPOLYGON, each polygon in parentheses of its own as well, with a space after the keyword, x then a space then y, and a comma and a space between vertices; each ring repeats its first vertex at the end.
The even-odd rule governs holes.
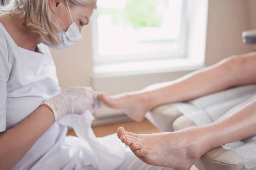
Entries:
MULTIPOLYGON (((18 47, 0 23, 0 132, 19 124, 44 100, 61 92, 49 48, 40 44, 38 49, 41 53, 18 47)), ((12 169, 30 169, 66 133, 67 127, 53 124, 12 169)))

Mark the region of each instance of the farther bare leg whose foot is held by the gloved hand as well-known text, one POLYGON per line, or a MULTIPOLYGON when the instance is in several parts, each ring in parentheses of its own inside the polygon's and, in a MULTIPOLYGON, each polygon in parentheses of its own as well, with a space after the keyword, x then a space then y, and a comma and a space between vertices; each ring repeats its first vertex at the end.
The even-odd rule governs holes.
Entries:
POLYGON ((106 106, 125 112, 135 121, 142 121, 147 111, 160 105, 192 100, 231 86, 256 83, 255 65, 256 53, 249 53, 192 72, 161 89, 111 97, 103 93, 99 98, 106 106))

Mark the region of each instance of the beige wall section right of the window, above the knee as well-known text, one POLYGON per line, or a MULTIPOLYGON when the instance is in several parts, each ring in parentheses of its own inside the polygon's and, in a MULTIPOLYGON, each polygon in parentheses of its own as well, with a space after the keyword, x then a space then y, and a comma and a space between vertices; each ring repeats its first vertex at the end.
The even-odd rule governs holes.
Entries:
POLYGON ((246 0, 209 0, 206 65, 251 51, 241 34, 250 29, 246 0))

